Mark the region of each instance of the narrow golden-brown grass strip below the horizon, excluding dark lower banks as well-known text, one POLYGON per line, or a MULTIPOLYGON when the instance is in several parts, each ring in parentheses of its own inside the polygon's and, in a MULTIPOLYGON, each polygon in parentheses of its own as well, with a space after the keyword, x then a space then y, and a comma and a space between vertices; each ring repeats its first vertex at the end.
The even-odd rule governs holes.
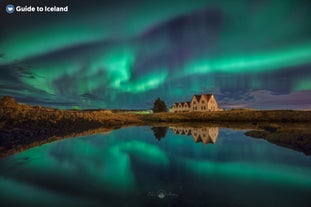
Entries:
MULTIPOLYGON (((244 123, 311 123, 311 111, 295 110, 228 110, 216 112, 180 112, 139 114, 134 112, 112 112, 110 110, 60 110, 17 103, 13 98, 0 98, 0 121, 10 126, 28 122, 83 123, 100 126, 122 126, 126 124, 175 123, 175 122, 244 122, 244 123)), ((5 124, 0 124, 3 127, 5 124)))

